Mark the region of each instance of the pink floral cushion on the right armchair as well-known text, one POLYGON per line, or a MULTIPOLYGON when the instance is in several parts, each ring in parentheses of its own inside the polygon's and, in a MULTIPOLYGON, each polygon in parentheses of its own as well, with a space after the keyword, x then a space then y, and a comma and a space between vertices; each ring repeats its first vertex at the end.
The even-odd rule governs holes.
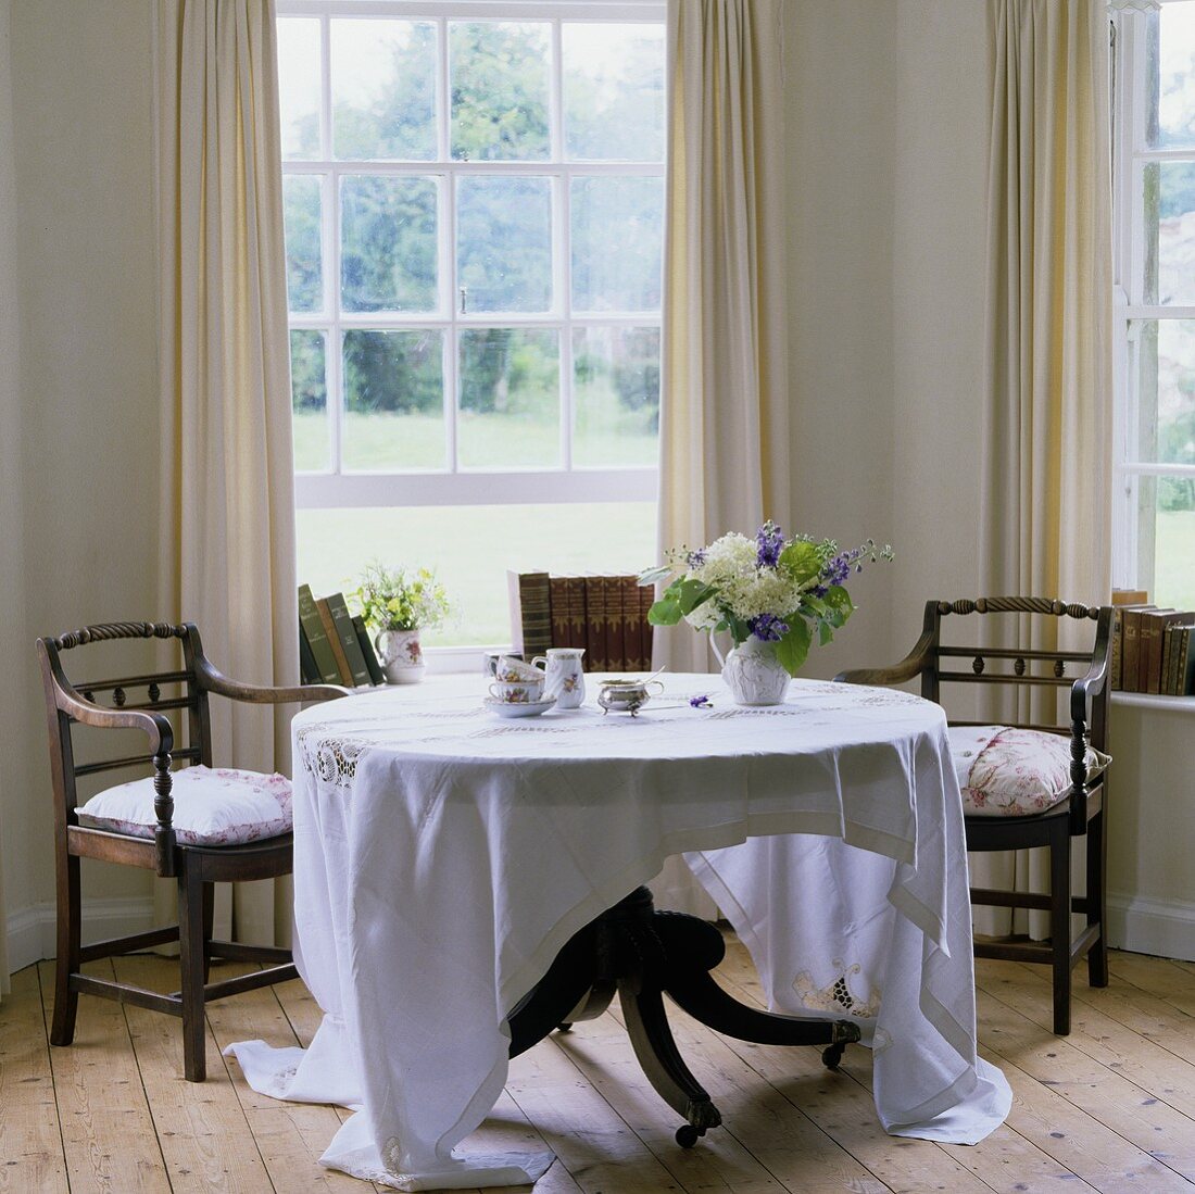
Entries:
MULTIPOLYGON (((951 725, 950 757, 968 816, 1024 816, 1071 790, 1071 740, 1010 725, 951 725)), ((1111 759, 1087 747, 1087 779, 1111 759)))

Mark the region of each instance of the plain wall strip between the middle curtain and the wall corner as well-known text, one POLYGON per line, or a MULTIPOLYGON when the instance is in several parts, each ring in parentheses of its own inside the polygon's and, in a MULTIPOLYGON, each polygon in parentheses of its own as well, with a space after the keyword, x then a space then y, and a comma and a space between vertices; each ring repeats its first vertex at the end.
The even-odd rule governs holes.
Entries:
MULTIPOLYGON (((790 143, 792 523, 853 546, 896 543, 893 469, 893 177, 896 8, 785 6, 790 143)), ((897 544, 900 549, 900 545, 897 544)), ((810 675, 887 660, 893 572, 856 577, 858 612, 810 675)))

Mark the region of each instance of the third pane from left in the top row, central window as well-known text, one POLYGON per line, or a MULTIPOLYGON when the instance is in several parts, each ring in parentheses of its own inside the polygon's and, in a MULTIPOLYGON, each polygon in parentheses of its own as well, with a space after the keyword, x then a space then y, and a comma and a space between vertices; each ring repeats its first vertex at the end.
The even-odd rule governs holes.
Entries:
POLYGON ((452 22, 452 155, 456 161, 543 161, 551 152, 549 26, 452 22))

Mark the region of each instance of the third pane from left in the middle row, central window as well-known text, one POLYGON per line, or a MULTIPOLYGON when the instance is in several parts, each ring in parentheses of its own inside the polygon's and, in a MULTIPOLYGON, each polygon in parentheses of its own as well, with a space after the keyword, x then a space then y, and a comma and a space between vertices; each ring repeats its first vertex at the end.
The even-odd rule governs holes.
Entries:
POLYGON ((552 189, 546 178, 461 178, 456 276, 466 310, 550 311, 552 189))

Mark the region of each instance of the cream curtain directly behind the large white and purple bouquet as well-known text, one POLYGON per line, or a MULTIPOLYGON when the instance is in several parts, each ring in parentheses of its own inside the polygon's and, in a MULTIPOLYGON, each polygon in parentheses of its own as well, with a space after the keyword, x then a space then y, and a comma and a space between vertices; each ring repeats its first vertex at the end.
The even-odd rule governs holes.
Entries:
MULTIPOLYGON (((660 534, 790 516, 780 0, 669 0, 660 534)), ((710 669, 656 631, 656 666, 710 669)))

